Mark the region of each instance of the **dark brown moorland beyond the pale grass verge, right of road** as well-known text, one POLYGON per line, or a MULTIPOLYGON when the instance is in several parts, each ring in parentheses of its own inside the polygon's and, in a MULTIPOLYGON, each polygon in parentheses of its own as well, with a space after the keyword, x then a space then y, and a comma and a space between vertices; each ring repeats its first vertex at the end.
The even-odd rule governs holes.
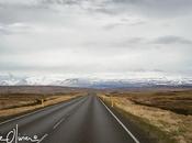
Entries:
POLYGON ((192 114, 192 90, 126 92, 112 96, 126 97, 136 105, 157 107, 179 114, 192 114))

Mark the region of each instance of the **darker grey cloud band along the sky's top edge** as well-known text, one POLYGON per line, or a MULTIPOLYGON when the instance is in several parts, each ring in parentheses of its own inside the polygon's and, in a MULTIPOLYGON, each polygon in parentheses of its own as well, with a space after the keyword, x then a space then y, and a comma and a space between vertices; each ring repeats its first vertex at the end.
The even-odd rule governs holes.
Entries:
POLYGON ((47 4, 79 6, 90 11, 117 14, 123 12, 142 13, 149 15, 178 15, 191 13, 191 0, 33 0, 30 2, 0 2, 0 6, 14 4, 32 8, 47 8, 47 4), (84 7, 86 6, 86 7, 84 7))

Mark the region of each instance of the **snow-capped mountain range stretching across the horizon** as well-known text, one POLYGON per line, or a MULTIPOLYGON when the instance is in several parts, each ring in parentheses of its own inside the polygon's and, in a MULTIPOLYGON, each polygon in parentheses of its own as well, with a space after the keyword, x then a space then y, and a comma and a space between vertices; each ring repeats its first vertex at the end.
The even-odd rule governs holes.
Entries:
POLYGON ((64 78, 64 77, 15 77, 13 75, 0 76, 0 86, 33 86, 49 85, 65 87, 91 88, 126 88, 153 86, 192 86, 192 78, 127 78, 127 79, 100 79, 100 78, 64 78))

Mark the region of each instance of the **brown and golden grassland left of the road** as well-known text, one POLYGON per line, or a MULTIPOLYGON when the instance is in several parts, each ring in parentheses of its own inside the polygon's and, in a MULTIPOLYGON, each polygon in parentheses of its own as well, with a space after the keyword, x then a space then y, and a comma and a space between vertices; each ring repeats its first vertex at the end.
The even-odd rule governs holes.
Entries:
POLYGON ((0 119, 8 119, 24 112, 37 110, 47 106, 59 103, 71 98, 81 96, 80 94, 68 95, 7 95, 0 97, 0 119), (43 101, 43 102, 42 102, 43 101))

